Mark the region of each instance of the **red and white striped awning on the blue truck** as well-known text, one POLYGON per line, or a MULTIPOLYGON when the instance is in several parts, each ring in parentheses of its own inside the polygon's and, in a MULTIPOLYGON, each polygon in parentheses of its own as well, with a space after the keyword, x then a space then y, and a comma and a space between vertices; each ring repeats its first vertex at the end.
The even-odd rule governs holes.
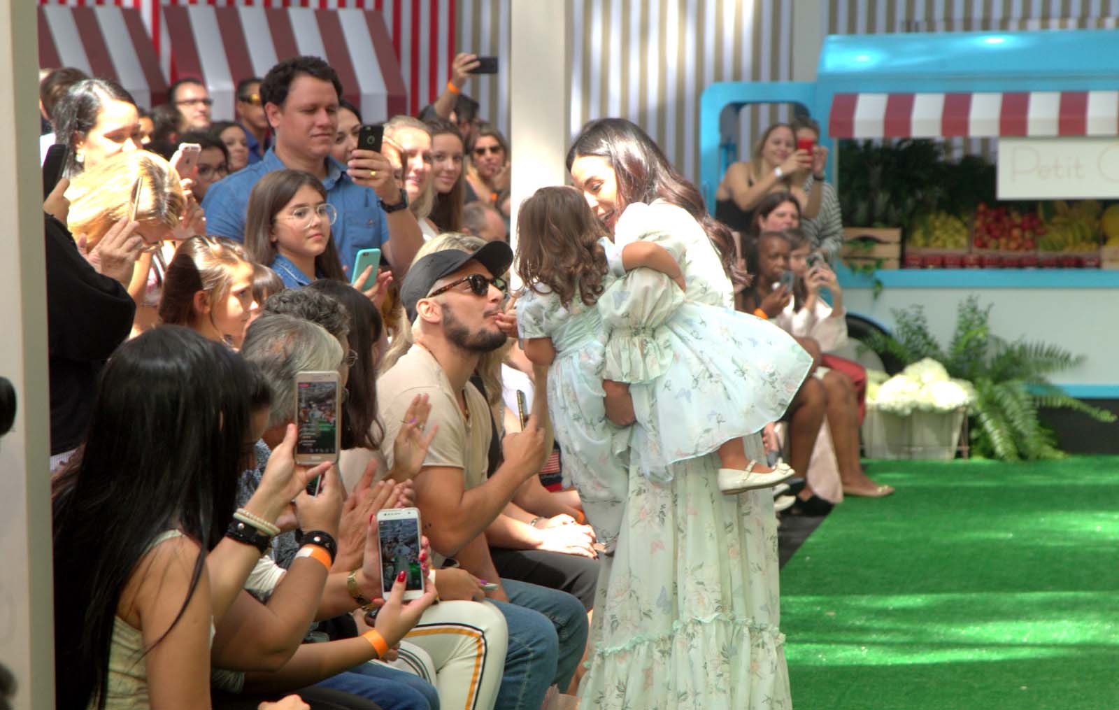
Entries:
POLYGON ((1119 91, 836 94, 831 138, 1119 134, 1119 91))

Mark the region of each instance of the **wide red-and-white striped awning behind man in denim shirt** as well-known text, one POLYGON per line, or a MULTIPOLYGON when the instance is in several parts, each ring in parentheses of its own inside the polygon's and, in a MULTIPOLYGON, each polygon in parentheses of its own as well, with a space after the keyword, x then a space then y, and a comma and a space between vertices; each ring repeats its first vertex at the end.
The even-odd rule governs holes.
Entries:
POLYGON ((208 4, 166 6, 162 12, 171 80, 201 78, 215 120, 233 119, 237 82, 264 76, 278 60, 298 55, 326 59, 366 122, 407 111, 407 90, 379 12, 208 4))

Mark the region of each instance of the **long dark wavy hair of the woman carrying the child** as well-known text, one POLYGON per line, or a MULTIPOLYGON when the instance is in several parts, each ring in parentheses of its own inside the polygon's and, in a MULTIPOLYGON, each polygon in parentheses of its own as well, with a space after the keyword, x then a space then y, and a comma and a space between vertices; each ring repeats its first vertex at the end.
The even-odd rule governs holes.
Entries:
POLYGON ((613 167, 621 203, 619 213, 626 205, 648 205, 656 199, 686 211, 715 245, 726 275, 735 280, 731 270, 734 262, 734 235, 731 230, 707 214, 703 195, 696 186, 676 171, 664 151, 639 125, 626 119, 591 121, 583 127, 567 151, 568 172, 580 156, 605 158, 613 167))

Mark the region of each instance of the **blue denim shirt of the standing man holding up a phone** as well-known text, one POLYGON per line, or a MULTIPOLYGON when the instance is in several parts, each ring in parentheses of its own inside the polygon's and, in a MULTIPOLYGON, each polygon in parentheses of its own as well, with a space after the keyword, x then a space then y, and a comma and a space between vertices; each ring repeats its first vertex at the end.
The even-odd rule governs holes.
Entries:
MULTIPOLYGON (((210 185, 203 200, 206 232, 244 242, 248 194, 266 174, 285 168, 275 149, 269 149, 260 162, 210 185)), ((327 177, 322 186, 327 188, 327 202, 338 211, 338 219, 330 227, 330 239, 338 247, 342 267, 352 269, 358 251, 384 249, 388 241, 388 222, 377 194, 350 179, 346 167, 330 156, 327 156, 327 177)))

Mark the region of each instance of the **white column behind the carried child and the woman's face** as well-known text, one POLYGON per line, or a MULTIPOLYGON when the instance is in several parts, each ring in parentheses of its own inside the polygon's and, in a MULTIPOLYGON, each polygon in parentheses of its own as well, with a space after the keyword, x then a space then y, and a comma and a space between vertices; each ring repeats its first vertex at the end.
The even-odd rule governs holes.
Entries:
MULTIPOLYGON (((537 188, 563 185, 567 178, 565 93, 571 71, 567 4, 510 0, 510 122, 513 148, 513 215, 509 243, 517 249, 517 209, 537 188)), ((515 279, 516 280, 516 279, 515 279)), ((519 286, 519 283, 517 283, 519 286)))

